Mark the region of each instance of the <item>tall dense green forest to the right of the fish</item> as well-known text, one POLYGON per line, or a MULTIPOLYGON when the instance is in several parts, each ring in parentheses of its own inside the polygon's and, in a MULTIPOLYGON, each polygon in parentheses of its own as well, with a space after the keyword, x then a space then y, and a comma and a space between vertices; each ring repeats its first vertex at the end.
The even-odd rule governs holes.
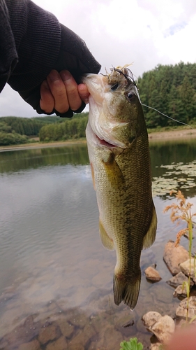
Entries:
MULTIPOLYGON (((142 104, 158 109, 182 123, 196 122, 196 64, 161 65, 138 78, 142 104)), ((143 106, 147 128, 178 125, 143 106)))

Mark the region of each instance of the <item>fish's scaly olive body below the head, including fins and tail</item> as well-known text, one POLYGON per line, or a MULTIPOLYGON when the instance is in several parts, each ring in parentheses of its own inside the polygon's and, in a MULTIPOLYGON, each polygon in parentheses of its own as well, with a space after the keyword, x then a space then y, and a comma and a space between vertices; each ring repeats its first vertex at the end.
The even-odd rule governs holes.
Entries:
POLYGON ((126 150, 112 150, 95 146, 88 131, 86 138, 100 213, 100 238, 105 248, 116 251, 114 302, 123 300, 134 309, 140 291, 141 251, 156 235, 149 152, 144 152, 145 145, 141 147, 142 139, 126 150))

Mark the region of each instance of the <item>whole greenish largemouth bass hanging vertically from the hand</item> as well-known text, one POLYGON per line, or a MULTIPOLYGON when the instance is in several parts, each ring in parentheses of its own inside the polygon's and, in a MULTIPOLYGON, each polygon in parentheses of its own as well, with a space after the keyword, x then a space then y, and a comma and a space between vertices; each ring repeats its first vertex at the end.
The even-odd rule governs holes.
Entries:
POLYGON ((103 246, 116 251, 114 303, 133 310, 140 292, 140 255, 156 239, 151 160, 144 113, 133 73, 87 73, 86 141, 103 246))

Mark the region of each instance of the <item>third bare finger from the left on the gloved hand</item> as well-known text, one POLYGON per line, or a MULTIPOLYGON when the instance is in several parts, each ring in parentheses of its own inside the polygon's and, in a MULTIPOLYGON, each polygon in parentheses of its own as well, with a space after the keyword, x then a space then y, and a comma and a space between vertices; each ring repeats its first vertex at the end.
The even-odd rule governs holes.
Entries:
POLYGON ((78 85, 69 71, 61 71, 60 76, 66 87, 70 109, 72 109, 72 111, 77 111, 82 104, 82 100, 78 92, 78 85))

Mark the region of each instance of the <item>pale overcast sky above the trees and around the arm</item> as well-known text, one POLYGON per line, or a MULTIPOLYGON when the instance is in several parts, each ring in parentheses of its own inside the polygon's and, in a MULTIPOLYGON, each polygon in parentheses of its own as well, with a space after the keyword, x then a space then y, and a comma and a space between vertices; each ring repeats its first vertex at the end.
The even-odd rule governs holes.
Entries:
MULTIPOLYGON (((105 67, 132 63, 135 76, 157 64, 196 62, 195 0, 34 0, 81 38, 105 67)), ((4 87, 0 116, 38 116, 4 87)))

